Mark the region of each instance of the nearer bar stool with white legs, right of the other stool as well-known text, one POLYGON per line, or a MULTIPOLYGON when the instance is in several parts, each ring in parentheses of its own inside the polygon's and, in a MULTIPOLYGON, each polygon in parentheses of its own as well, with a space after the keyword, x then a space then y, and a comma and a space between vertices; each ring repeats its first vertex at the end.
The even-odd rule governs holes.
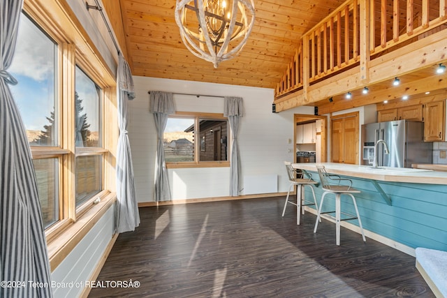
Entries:
POLYGON ((320 176, 321 181, 321 187, 323 188, 323 195, 321 195, 321 202, 320 202, 320 208, 318 209, 318 213, 316 216, 316 223, 314 228, 314 233, 316 233, 316 228, 318 228, 318 220, 320 220, 321 215, 325 214, 326 216, 330 218, 334 218, 333 216, 330 216, 330 213, 335 213, 335 226, 336 226, 336 241, 337 245, 340 245, 340 222, 341 221, 351 221, 353 219, 358 219, 358 225, 360 226, 360 231, 362 232, 362 238, 363 241, 366 241, 365 234, 363 233, 363 227, 362 227, 362 221, 360 221, 360 214, 358 214, 358 208, 356 203, 356 198, 354 198, 353 193, 360 193, 356 188, 352 188, 352 181, 351 179, 343 179, 339 177, 339 175, 336 174, 328 174, 326 171, 324 165, 316 165, 316 169, 318 170, 318 175, 320 176), (330 184, 330 181, 337 181, 337 185, 330 184), (348 181, 349 185, 340 185, 339 183, 341 181, 348 181), (323 207, 323 201, 325 195, 328 193, 334 193, 335 194, 335 211, 328 211, 328 212, 321 212, 321 208, 323 207), (342 195, 348 195, 351 197, 352 202, 354 204, 354 207, 356 207, 356 214, 357 216, 353 216, 352 214, 348 214, 345 212, 342 212, 341 209, 341 197, 342 195), (346 216, 349 216, 348 218, 341 218, 341 214, 344 214, 346 216))

